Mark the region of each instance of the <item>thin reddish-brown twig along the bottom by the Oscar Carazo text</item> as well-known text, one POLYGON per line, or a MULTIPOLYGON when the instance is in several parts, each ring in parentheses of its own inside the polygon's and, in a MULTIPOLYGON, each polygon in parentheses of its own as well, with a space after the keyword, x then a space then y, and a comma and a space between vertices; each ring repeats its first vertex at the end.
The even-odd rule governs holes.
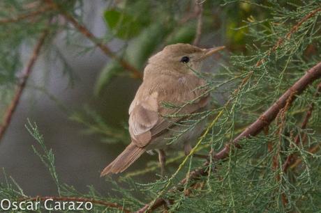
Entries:
POLYGON ((78 201, 78 202, 90 202, 96 205, 103 205, 106 207, 112 207, 112 208, 117 208, 119 210, 121 210, 121 212, 126 212, 129 213, 129 210, 126 210, 122 205, 119 205, 118 203, 110 203, 110 202, 106 202, 103 200, 94 200, 92 198, 77 198, 77 197, 56 197, 56 196, 45 196, 45 197, 41 197, 41 196, 36 196, 33 198, 21 198, 20 201, 22 200, 26 200, 26 201, 44 201, 44 200, 48 200, 48 199, 52 199, 52 200, 56 200, 56 201, 78 201))

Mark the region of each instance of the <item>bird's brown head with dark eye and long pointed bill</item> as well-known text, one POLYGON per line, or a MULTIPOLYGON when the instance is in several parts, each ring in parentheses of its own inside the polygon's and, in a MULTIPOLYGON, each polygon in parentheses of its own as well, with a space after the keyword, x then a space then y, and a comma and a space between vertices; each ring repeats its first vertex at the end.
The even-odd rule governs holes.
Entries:
POLYGON ((202 49, 188 44, 168 45, 151 58, 150 65, 156 65, 176 72, 188 73, 193 70, 199 70, 204 58, 211 56, 215 52, 225 47, 213 47, 202 49))

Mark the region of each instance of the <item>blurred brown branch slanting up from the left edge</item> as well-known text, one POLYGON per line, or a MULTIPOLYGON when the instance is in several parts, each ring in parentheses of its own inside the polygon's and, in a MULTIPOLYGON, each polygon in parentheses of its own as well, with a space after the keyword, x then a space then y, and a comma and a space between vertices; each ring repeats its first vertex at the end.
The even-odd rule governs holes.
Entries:
POLYGON ((17 89, 15 90, 15 95, 13 97, 13 100, 11 101, 10 105, 8 106, 8 108, 6 109, 6 112, 3 116, 3 121, 0 125, 0 141, 4 135, 4 133, 6 132, 6 129, 8 128, 11 118, 13 117, 13 113, 15 113, 15 109, 17 108, 17 104, 20 101, 20 97, 22 95, 22 92, 27 84, 27 80, 32 72, 33 69, 33 65, 35 65, 39 53, 40 53, 40 49, 41 47, 43 47, 43 43, 45 42, 45 38, 47 37, 48 31, 47 29, 45 31, 43 31, 42 35, 40 36, 36 46, 33 49, 31 58, 29 59, 29 62, 27 63, 26 68, 24 69, 24 71, 22 72, 22 77, 20 80, 20 83, 17 85, 17 89))

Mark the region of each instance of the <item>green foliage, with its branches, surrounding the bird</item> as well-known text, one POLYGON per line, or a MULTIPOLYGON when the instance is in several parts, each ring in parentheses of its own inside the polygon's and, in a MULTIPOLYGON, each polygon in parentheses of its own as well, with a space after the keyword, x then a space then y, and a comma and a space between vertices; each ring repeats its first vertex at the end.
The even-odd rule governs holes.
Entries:
MULTIPOLYGON (((67 44, 73 42, 70 38, 84 36, 92 42, 92 48, 112 58, 98 77, 96 95, 118 76, 140 81, 147 58, 164 45, 193 42, 197 36, 204 43, 213 44, 214 38, 222 40, 227 50, 218 71, 200 75, 213 97, 211 107, 179 124, 186 129, 168 143, 175 143, 202 120, 207 120, 207 127, 190 155, 170 155, 165 178, 140 181, 146 173, 158 173, 158 164, 153 161, 140 171, 124 173, 119 180, 106 178, 118 196, 102 196, 93 187, 82 194, 60 182, 54 150, 45 147, 38 127, 29 122, 30 134, 40 143, 41 150, 34 151, 57 184, 59 196, 55 200, 89 200, 96 212, 321 210, 320 1, 225 0, 195 4, 138 0, 110 1, 108 5, 102 18, 110 31, 104 38, 96 38, 82 24, 82 1, 0 2, 0 118, 4 120, 0 139, 1 132, 10 125, 10 118, 6 119, 10 104, 17 90, 24 88, 21 82, 29 76, 24 72, 22 81, 17 78, 20 70, 30 65, 30 61, 22 63, 21 45, 34 48, 33 59, 44 50, 57 55, 50 42, 61 31, 66 32, 67 44), (121 52, 112 52, 107 46, 112 38, 126 42, 121 52), (209 160, 197 159, 195 153, 208 155, 209 160)), ((59 57, 55 60, 64 61, 59 57)), ((110 127, 91 109, 71 113, 70 118, 84 125, 88 133, 100 134, 111 146, 115 142, 128 143, 126 127, 110 127)), ((0 184, 1 198, 45 199, 25 195, 11 178, 0 184)))

